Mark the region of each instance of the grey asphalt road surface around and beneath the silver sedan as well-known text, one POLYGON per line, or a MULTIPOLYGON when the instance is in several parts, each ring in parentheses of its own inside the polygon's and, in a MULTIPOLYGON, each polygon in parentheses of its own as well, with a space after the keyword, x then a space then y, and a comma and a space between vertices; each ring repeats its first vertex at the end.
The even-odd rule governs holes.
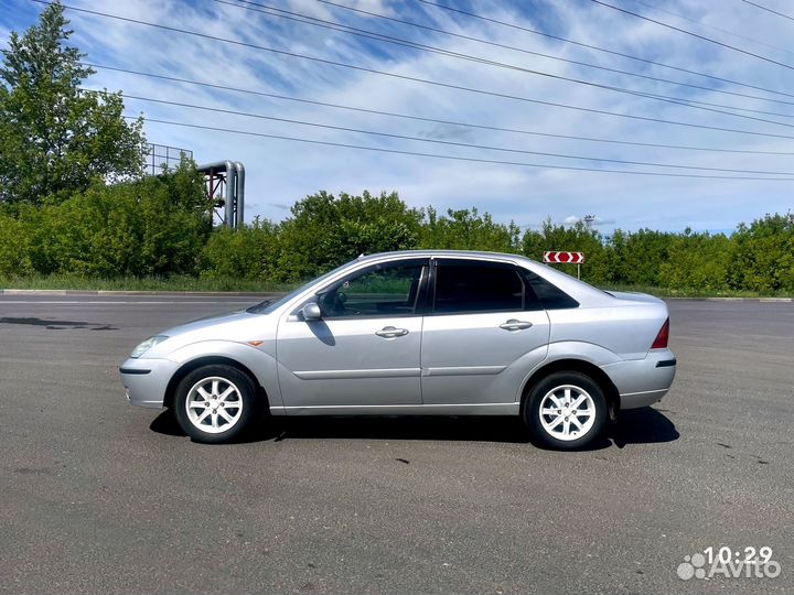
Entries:
POLYGON ((672 392, 588 452, 501 418, 205 446, 126 403, 139 340, 251 302, 0 296, 0 592, 794 592, 794 304, 670 302, 672 392), (722 545, 781 574, 678 577, 722 545))

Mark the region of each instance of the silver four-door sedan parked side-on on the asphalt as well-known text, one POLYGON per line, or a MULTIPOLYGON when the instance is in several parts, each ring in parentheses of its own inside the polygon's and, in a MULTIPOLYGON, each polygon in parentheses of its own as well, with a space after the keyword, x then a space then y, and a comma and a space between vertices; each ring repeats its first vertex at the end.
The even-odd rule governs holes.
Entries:
POLYGON ((516 255, 361 257, 278 301, 178 326, 120 367, 129 402, 200 442, 270 415, 521 415, 536 442, 591 443, 667 392, 661 300, 516 255))

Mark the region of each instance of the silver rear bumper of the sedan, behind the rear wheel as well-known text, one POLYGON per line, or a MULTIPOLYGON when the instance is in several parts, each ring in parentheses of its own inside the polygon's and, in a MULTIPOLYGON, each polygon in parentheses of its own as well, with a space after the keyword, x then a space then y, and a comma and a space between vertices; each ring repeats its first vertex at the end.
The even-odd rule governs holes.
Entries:
POLYGON ((621 409, 636 409, 662 399, 675 379, 677 361, 669 349, 652 349, 645 359, 609 364, 607 372, 620 393, 621 409))

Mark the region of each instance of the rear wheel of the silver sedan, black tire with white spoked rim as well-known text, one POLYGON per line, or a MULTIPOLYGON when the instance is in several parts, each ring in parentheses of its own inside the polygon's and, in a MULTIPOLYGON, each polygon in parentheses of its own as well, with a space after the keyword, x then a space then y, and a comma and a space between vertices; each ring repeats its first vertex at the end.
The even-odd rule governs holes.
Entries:
POLYGON ((523 415, 540 445, 576 451, 592 444, 603 433, 609 412, 598 382, 581 372, 559 371, 532 388, 524 401, 523 415))

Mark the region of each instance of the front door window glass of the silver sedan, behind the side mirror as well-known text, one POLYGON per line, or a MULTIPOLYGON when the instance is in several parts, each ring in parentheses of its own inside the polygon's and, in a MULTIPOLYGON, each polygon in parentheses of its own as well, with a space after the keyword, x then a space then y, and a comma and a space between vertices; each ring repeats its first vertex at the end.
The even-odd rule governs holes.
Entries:
POLYGON ((416 312, 422 264, 383 266, 345 279, 319 295, 323 317, 407 316, 416 312))

